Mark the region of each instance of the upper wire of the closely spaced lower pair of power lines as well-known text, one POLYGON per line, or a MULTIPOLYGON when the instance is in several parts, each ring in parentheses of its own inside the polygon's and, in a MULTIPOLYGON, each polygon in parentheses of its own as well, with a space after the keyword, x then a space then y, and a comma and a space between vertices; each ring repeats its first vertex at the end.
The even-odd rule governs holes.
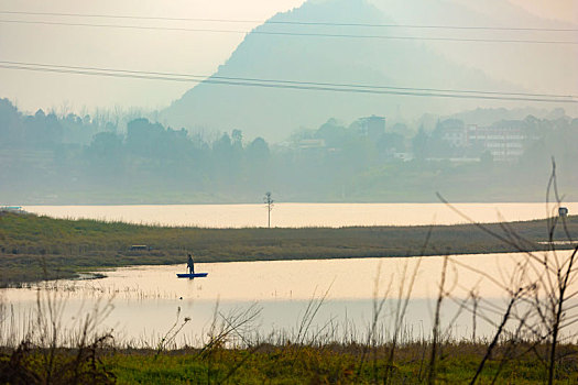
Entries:
POLYGON ((236 81, 253 81, 253 82, 271 82, 271 84, 288 84, 288 85, 304 85, 304 86, 321 86, 321 87, 349 87, 349 88, 368 88, 368 89, 391 89, 402 91, 427 91, 427 92, 450 92, 450 94, 479 94, 479 95, 499 95, 499 96, 521 96, 521 97, 537 97, 537 98, 575 98, 574 95, 554 95, 554 94, 528 94, 528 92, 508 92, 508 91, 484 91, 484 90, 468 90, 468 89, 447 89, 447 88, 415 88, 415 87, 394 87, 382 85, 363 85, 363 84, 343 84, 343 82, 319 82, 319 81, 303 81, 303 80, 286 80, 286 79, 263 79, 252 77, 229 77, 218 75, 194 75, 179 73, 161 73, 161 72, 144 72, 134 69, 119 69, 119 68, 103 68, 103 67, 86 67, 86 66, 67 66, 56 64, 42 63, 25 63, 25 62, 9 62, 0 61, 0 64, 15 65, 15 66, 34 66, 47 68, 64 68, 75 70, 96 70, 119 74, 137 74, 151 76, 168 76, 179 78, 190 78, 192 81, 203 81, 206 79, 220 80, 236 80, 236 81))

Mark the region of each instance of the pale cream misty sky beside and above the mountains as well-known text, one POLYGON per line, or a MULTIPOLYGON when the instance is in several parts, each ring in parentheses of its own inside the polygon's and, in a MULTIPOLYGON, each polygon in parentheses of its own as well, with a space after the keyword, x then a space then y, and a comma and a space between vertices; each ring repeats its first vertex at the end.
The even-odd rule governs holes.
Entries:
MULTIPOLYGON (((504 0, 505 1, 505 0, 504 0)), ((88 14, 154 15, 254 20, 248 23, 167 22, 24 16, 0 14, 0 20, 39 20, 184 26, 250 31, 276 12, 298 7, 304 0, 3 0, 0 10, 88 14)), ((379 2, 375 0, 374 2, 379 2)), ((577 22, 576 0, 511 0, 528 12, 577 22)), ((403 22, 411 23, 412 20, 403 22)), ((210 75, 242 41, 242 33, 142 31, 102 28, 0 23, 0 61, 127 68, 151 72, 210 75)), ((157 80, 109 79, 20 72, 0 68, 0 98, 19 108, 57 112, 97 107, 166 107, 193 85, 157 80)), ((570 85, 569 89, 576 89, 570 85)))

